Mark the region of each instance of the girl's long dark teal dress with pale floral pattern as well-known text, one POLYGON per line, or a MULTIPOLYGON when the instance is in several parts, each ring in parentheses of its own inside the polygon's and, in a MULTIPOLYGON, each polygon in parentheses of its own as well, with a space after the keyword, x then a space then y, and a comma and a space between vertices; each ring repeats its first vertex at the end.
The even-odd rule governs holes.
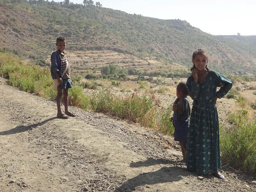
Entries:
POLYGON ((191 75, 186 85, 193 99, 188 130, 187 170, 199 174, 214 173, 221 167, 219 121, 214 99, 216 95, 219 99, 226 95, 232 83, 221 74, 209 71, 202 84, 195 83, 191 75), (221 88, 216 91, 217 87, 221 88))

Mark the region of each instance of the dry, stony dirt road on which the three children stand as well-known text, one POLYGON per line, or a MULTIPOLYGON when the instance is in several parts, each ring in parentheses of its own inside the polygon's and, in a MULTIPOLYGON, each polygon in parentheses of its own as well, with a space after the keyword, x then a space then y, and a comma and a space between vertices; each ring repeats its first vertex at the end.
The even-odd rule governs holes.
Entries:
POLYGON ((0 191, 256 191, 255 177, 228 165, 225 180, 187 172, 171 136, 136 123, 74 107, 57 118, 55 101, 3 78, 0 101, 0 191))

